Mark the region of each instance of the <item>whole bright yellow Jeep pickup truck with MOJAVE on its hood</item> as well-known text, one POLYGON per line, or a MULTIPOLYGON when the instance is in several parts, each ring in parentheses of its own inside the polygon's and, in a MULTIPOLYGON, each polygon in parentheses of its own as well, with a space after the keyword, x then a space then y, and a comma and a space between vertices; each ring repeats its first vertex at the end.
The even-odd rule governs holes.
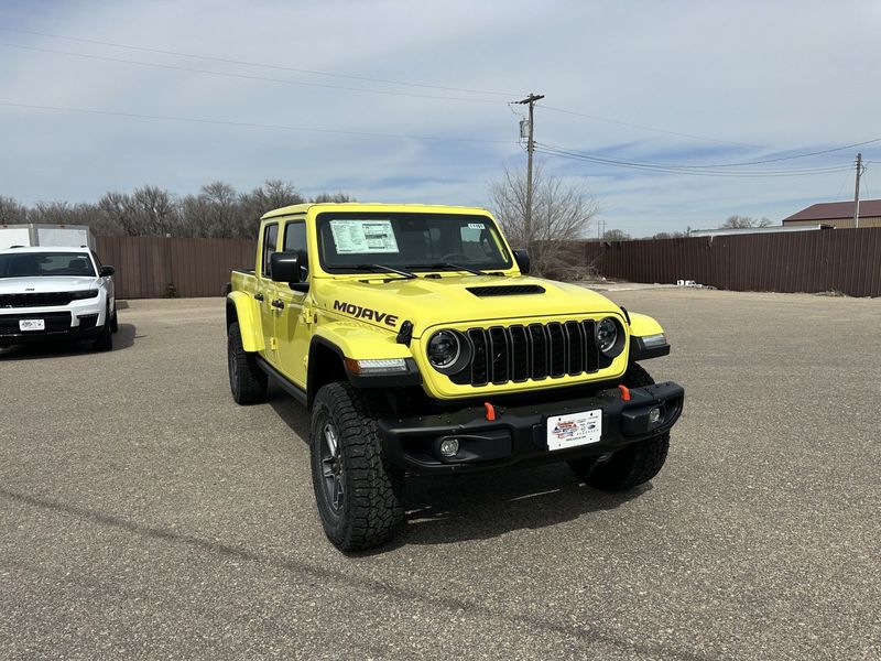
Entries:
POLYGON ((608 490, 664 464, 683 389, 638 361, 653 318, 529 273, 479 208, 301 204, 261 219, 227 299, 232 398, 311 411, 315 500, 342 551, 403 519, 404 475, 567 462, 608 490))

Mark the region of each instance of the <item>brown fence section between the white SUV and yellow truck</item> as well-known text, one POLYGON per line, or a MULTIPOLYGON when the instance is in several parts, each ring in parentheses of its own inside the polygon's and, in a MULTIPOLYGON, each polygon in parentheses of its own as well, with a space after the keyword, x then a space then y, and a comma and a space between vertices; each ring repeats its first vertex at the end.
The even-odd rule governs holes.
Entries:
POLYGON ((98 237, 98 256, 116 267, 119 299, 219 296, 232 269, 254 266, 246 239, 98 237))

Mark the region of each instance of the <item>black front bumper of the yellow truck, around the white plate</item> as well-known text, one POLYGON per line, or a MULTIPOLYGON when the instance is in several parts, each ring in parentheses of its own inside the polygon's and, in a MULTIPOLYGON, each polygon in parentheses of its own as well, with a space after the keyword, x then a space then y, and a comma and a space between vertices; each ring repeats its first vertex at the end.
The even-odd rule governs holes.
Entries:
POLYGON ((396 466, 413 473, 465 473, 519 463, 550 463, 597 456, 667 432, 682 413, 685 391, 672 381, 632 388, 624 400, 618 389, 589 398, 536 405, 496 407, 488 420, 485 407, 469 407, 439 415, 379 421, 385 453, 396 466), (548 449, 547 419, 600 410, 602 433, 587 445, 548 449), (659 410, 652 422, 651 412, 659 410), (456 438, 459 452, 444 457, 440 444, 456 438))

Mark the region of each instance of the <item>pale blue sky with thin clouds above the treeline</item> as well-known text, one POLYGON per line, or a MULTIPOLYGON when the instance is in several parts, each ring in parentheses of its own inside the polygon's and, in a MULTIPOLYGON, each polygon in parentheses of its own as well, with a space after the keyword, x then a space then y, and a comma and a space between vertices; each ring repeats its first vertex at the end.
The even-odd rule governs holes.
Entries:
POLYGON ((488 206, 525 163, 508 101, 535 91, 536 141, 570 154, 536 158, 607 228, 779 223, 852 199, 858 151, 881 197, 881 141, 774 160, 881 138, 880 36, 877 0, 0 0, 0 195, 283 178, 488 206))

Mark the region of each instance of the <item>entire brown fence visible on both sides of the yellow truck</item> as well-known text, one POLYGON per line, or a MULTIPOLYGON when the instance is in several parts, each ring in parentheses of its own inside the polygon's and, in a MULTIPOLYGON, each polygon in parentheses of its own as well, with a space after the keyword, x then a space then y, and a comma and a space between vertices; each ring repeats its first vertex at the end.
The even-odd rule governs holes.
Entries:
MULTIPOLYGON (((246 239, 98 237, 98 254, 117 268, 120 299, 219 296, 232 269, 254 266, 246 239)), ((694 280, 735 291, 841 292, 881 296, 881 227, 574 246, 607 278, 631 282, 694 280)))

